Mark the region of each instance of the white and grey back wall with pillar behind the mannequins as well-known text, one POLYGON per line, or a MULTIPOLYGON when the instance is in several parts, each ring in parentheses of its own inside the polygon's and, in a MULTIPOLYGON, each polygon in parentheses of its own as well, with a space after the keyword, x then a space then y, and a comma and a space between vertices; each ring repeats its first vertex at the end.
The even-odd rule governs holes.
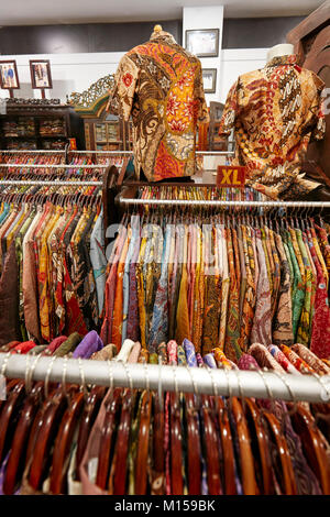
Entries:
MULTIPOLYGON (((205 68, 218 69, 217 91, 206 95, 208 103, 211 100, 224 102, 238 76, 264 66, 267 50, 283 43, 285 34, 301 21, 301 16, 223 20, 222 7, 202 8, 204 14, 200 9, 184 9, 183 20, 165 21, 162 25, 180 44, 185 44, 186 29, 219 28, 219 57, 201 58, 205 68), (252 30, 253 21, 258 31, 252 30)), ((66 102, 72 92, 81 92, 101 77, 113 74, 121 56, 146 41, 155 23, 54 25, 54 30, 50 26, 0 28, 1 59, 15 59, 18 65, 21 89, 14 90, 14 97, 41 97, 40 90, 31 88, 29 66, 30 59, 40 58, 51 61, 53 89, 46 90, 46 97, 66 102), (116 38, 114 33, 121 37, 116 38), (14 52, 10 52, 11 48, 14 52)), ((8 97, 8 91, 0 90, 0 97, 8 97)))

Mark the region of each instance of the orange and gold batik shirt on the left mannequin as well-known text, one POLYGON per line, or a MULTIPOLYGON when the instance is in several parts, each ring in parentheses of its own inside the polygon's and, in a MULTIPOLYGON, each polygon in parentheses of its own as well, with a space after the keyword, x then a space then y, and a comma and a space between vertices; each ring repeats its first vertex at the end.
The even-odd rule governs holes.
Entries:
POLYGON ((114 80, 109 109, 132 116, 138 175, 194 175, 196 128, 209 119, 200 61, 162 31, 122 57, 114 80))

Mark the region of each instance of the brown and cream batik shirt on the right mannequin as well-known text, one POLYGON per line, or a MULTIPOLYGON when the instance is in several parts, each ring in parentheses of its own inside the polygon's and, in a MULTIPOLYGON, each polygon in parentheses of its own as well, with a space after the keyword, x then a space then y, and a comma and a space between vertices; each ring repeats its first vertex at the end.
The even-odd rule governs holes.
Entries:
POLYGON ((219 134, 235 133, 232 165, 248 167, 248 184, 277 199, 305 195, 319 184, 300 174, 310 138, 324 136, 323 81, 295 55, 274 57, 231 87, 219 134))

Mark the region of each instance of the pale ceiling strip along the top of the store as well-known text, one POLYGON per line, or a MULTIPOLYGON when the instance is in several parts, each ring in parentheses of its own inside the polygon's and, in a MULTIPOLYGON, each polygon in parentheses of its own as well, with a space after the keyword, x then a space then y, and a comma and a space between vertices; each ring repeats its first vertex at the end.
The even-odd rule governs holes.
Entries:
POLYGON ((183 7, 224 6, 227 18, 307 15, 322 0, 0 0, 0 26, 154 21, 182 18, 183 7))

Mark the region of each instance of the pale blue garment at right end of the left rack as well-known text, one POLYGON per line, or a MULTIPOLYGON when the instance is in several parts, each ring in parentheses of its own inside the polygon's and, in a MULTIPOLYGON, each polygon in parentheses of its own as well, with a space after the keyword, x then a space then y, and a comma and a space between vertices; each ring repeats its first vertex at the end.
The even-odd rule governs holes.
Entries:
POLYGON ((103 227, 103 209, 95 223, 94 230, 90 235, 90 262, 92 265, 92 274, 96 283, 97 299, 99 315, 101 316, 105 304, 105 288, 106 288, 106 267, 107 257, 105 254, 105 227, 103 227))

